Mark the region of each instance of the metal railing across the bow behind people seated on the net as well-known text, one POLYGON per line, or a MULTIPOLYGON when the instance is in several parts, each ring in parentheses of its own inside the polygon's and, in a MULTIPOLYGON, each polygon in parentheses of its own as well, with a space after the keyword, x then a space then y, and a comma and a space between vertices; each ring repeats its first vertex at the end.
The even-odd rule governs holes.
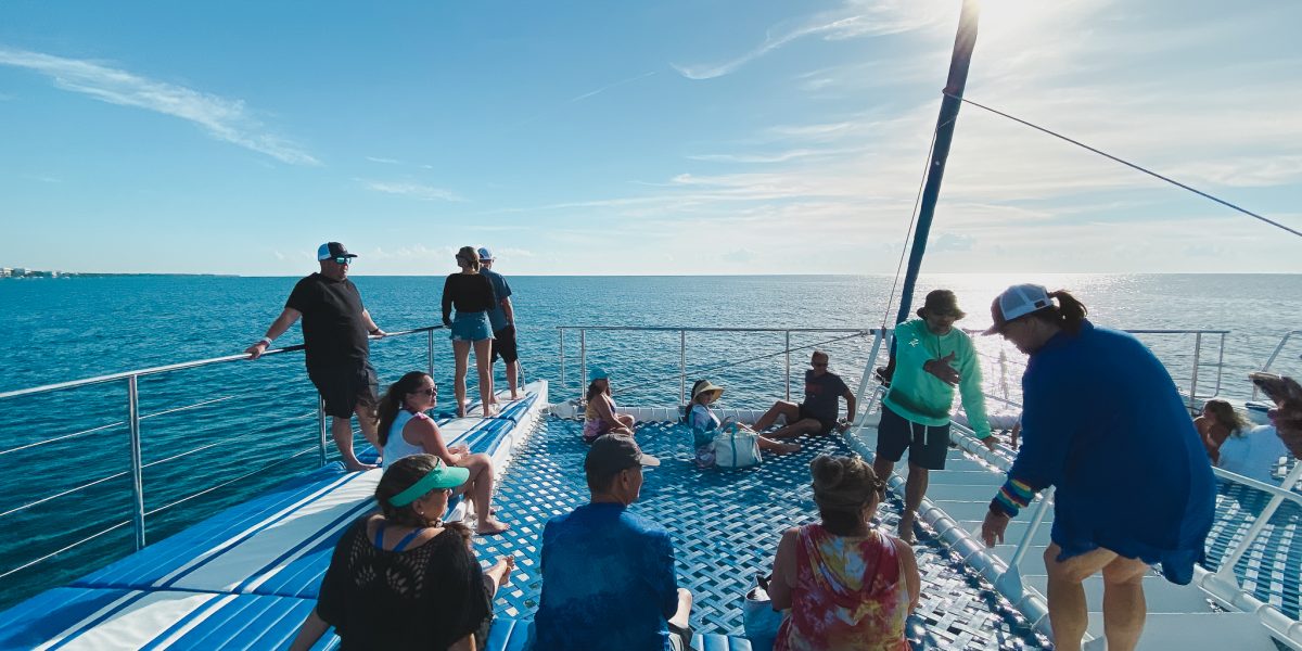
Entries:
MULTIPOLYGON (((773 333, 783 335, 784 345, 781 349, 771 353, 763 353, 745 359, 734 359, 721 365, 713 365, 710 367, 690 368, 694 375, 704 375, 710 372, 716 372, 724 368, 732 368, 741 365, 756 362, 760 359, 769 359, 773 357, 783 355, 784 359, 784 376, 783 385, 785 387, 784 396, 785 400, 792 398, 792 353, 799 350, 812 350, 819 346, 825 346, 829 344, 836 344, 841 341, 854 340, 854 339, 867 339, 876 337, 878 340, 883 336, 881 328, 687 328, 687 327, 654 327, 654 326, 557 326, 556 329, 560 332, 560 380, 561 387, 568 387, 566 383, 566 361, 565 361, 565 333, 578 332, 578 346, 579 346, 579 387, 582 392, 582 379, 587 376, 587 333, 592 332, 664 332, 664 333, 677 333, 678 335, 678 406, 687 404, 687 335, 689 333, 773 333), (841 335, 824 341, 816 341, 812 344, 802 344, 792 346, 792 335, 841 335)), ((865 375, 859 381, 859 401, 862 402, 863 392, 867 387, 868 376, 865 375)), ((643 384, 630 384, 621 387, 620 391, 628 392, 635 388, 642 388, 643 384)), ((582 397, 582 395, 581 395, 582 397)))

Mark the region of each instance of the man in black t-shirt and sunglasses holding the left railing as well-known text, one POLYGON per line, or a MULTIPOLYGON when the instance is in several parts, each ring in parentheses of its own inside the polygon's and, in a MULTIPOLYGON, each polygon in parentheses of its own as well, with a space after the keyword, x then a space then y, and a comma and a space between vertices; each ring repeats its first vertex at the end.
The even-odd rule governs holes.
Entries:
POLYGON ((303 352, 307 378, 316 385, 331 417, 331 435, 350 470, 375 466, 362 464, 353 453, 353 414, 362 426, 362 435, 379 449, 375 435, 375 405, 379 401, 375 368, 370 362, 367 335, 383 337, 384 331, 371 320, 362 306, 362 294, 348 280, 348 267, 357 255, 339 242, 323 243, 316 250, 320 272, 298 281, 285 310, 267 328, 267 335, 249 346, 250 359, 260 357, 272 340, 283 335, 299 318, 303 319, 303 352))

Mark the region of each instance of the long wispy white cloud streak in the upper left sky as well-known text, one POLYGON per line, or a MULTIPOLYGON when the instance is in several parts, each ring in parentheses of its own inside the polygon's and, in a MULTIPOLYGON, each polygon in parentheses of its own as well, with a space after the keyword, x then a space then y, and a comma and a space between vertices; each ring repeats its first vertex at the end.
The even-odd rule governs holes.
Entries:
POLYGON ((0 65, 48 76, 55 86, 100 102, 189 120, 219 141, 266 154, 283 163, 320 164, 293 142, 268 133, 240 99, 225 99, 185 86, 148 79, 95 61, 23 49, 0 48, 0 65))

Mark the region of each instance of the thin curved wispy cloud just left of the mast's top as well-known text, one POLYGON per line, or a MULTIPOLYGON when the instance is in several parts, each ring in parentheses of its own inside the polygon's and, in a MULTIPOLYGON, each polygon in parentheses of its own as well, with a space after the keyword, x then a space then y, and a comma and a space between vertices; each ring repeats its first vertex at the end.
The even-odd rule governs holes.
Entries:
POLYGON ((930 4, 909 0, 849 0, 836 10, 818 13, 796 25, 775 26, 769 30, 763 43, 728 61, 672 65, 674 70, 678 70, 678 74, 689 79, 712 79, 736 72, 755 59, 806 36, 822 36, 824 40, 842 40, 859 36, 898 34, 924 27, 943 16, 943 13, 936 10, 936 7, 927 7, 930 4))

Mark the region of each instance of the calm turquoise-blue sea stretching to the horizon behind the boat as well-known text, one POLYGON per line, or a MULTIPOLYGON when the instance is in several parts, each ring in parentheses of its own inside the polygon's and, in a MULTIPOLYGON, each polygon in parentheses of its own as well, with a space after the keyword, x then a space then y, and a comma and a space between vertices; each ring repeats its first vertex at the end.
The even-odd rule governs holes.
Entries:
MULTIPOLYGON (((501 270, 508 273, 510 270, 501 270)), ((297 279, 120 276, 0 281, 0 392, 240 353, 280 312, 297 279)), ((387 331, 437 323, 441 277, 353 279, 387 331)), ((939 275, 926 292, 956 290, 969 316, 990 323, 993 296, 1010 283, 1068 288, 1104 326, 1131 329, 1225 329, 1204 335, 1199 392, 1247 397, 1245 374, 1260 367, 1289 329, 1302 327, 1302 276, 1286 275, 939 275), (1223 361, 1223 366, 1217 366, 1223 361)), ((884 320, 889 276, 510 277, 521 354, 529 379, 552 381, 552 400, 577 396, 579 335, 559 326, 732 328, 870 328, 884 320)), ((917 306, 917 302, 915 302, 917 306)), ((893 320, 894 309, 891 310, 893 320)), ((833 371, 855 385, 871 340, 792 333, 793 392, 809 349, 832 355, 833 371)), ((1187 391, 1193 335, 1144 335, 1187 391)), ((677 332, 589 332, 586 361, 613 375, 624 404, 674 405, 680 388, 677 332)), ((277 345, 299 342, 296 327, 277 345)), ((767 405, 785 395, 784 333, 686 336, 689 381, 727 387, 730 406, 767 405), (742 363, 737 363, 743 361, 742 363)), ((435 333, 440 409, 450 409, 452 353, 435 333)), ((980 339, 991 393, 1016 400, 1021 355, 980 339)), ((1302 340, 1276 368, 1302 371, 1302 340)), ((426 335, 372 345, 381 381, 424 368, 426 335)), ((503 374, 497 372, 499 385, 503 374)), ((228 362, 139 380, 147 539, 167 535, 316 464, 315 393, 302 357, 228 362), (294 456, 297 454, 297 456, 294 456), (247 477, 242 477, 247 475, 247 477), (242 478, 241 478, 242 477, 242 478), (234 480, 241 478, 238 480, 234 480), (225 482, 230 482, 225 484, 225 482), (199 491, 203 495, 186 499, 199 491)), ((1082 410, 1091 409, 1082 397, 1082 410)), ((999 411, 1001 408, 993 408, 999 411)), ((0 607, 132 551, 126 384, 116 381, 33 398, 0 400, 0 607), (49 441, 52 443, 42 443, 49 441), (113 529, 90 542, 77 540, 113 529), (49 556, 31 566, 23 565, 49 556), (20 569, 22 568, 22 569, 20 569)), ((333 453, 333 449, 331 450, 333 453)))

